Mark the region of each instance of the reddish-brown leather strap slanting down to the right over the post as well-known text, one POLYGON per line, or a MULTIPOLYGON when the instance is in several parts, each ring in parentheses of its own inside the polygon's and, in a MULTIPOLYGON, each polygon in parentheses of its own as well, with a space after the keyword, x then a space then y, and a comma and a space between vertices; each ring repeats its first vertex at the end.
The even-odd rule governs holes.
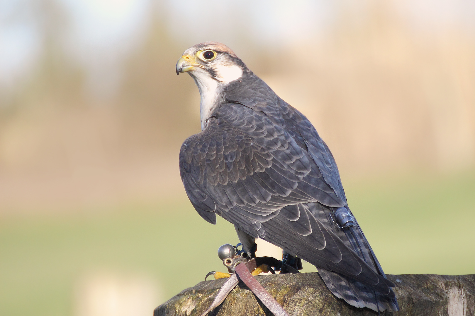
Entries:
POLYGON ((277 301, 270 296, 270 294, 262 287, 262 285, 252 276, 252 274, 247 270, 247 267, 243 263, 239 263, 235 268, 239 279, 241 279, 247 287, 256 294, 257 298, 261 300, 264 305, 269 308, 269 310, 275 316, 289 316, 285 309, 277 303, 277 301))

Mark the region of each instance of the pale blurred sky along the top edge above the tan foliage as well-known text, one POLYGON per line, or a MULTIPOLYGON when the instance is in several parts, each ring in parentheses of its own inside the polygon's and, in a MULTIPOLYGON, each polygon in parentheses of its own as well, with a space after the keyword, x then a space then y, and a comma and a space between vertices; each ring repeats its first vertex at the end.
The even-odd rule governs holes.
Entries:
MULTIPOLYGON (((371 1, 371 0, 368 0, 371 1)), ((97 82, 114 91, 119 65, 141 44, 152 15, 164 21, 183 47, 205 40, 232 46, 243 36, 260 45, 292 45, 314 40, 331 26, 344 7, 364 16, 362 0, 51 0, 67 22, 58 30, 61 45, 97 82)), ((475 36, 473 0, 401 0, 395 10, 409 23, 431 31, 462 25, 475 36)), ((395 2, 395 3, 396 3, 395 2)), ((12 89, 34 68, 42 52, 41 29, 48 18, 38 16, 47 1, 0 0, 0 86, 12 89), (40 3, 40 4, 38 4, 40 3), (41 4, 43 3, 43 4, 41 4)), ((102 87, 104 90, 104 87, 102 87)))

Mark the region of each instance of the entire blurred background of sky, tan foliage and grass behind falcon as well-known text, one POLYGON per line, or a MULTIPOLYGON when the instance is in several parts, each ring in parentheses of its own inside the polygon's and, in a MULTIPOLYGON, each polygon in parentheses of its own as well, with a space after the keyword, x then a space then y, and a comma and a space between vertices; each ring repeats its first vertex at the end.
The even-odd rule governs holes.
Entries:
POLYGON ((225 271, 178 170, 209 40, 314 123, 386 273, 475 273, 474 1, 0 0, 1 315, 152 315, 225 271))

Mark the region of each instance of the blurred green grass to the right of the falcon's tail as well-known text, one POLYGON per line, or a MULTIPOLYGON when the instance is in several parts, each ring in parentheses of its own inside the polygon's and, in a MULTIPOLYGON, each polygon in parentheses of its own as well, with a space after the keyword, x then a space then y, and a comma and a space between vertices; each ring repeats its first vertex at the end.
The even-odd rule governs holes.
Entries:
POLYGON ((475 273, 473 171, 349 188, 349 205, 386 273, 475 273))

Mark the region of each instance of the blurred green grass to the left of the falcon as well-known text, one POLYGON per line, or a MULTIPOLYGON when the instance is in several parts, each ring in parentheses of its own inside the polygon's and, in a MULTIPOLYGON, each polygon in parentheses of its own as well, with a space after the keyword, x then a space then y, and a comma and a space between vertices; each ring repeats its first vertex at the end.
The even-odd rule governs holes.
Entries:
POLYGON ((89 271, 144 273, 159 281, 165 299, 204 280, 221 269, 218 247, 237 236, 222 219, 203 221, 187 202, 3 218, 0 315, 71 315, 75 282, 89 271))

